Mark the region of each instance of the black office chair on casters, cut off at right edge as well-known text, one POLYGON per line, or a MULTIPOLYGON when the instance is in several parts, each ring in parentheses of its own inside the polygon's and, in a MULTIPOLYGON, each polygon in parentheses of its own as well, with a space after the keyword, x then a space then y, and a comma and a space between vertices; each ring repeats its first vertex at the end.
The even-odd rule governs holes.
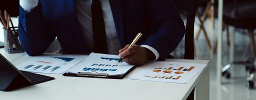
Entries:
POLYGON ((232 25, 236 28, 246 29, 250 42, 253 57, 248 58, 246 61, 234 61, 227 64, 222 68, 222 75, 230 78, 231 74, 227 69, 231 64, 245 65, 246 70, 246 85, 249 88, 254 87, 253 74, 256 70, 256 48, 253 30, 256 28, 256 1, 245 0, 237 1, 224 5, 223 9, 223 22, 227 25, 232 25))

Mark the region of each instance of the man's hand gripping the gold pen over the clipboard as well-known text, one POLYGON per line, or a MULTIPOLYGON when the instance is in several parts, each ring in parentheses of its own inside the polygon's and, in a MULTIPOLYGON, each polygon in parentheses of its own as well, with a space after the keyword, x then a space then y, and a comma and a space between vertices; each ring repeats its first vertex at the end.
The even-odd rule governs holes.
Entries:
POLYGON ((129 44, 119 50, 119 56, 123 57, 123 61, 134 64, 143 65, 148 60, 154 59, 154 53, 146 47, 141 47, 139 45, 134 45, 130 48, 129 44))

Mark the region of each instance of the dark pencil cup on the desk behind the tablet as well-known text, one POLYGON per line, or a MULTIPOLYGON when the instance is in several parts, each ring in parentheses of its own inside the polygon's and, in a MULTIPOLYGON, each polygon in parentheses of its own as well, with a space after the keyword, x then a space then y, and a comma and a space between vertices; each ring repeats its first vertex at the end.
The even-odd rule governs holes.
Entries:
MULTIPOLYGON (((10 27, 16 28, 16 27, 10 27)), ((24 52, 22 45, 18 39, 18 29, 5 29, 4 28, 4 38, 5 38, 5 50, 8 53, 24 52)))

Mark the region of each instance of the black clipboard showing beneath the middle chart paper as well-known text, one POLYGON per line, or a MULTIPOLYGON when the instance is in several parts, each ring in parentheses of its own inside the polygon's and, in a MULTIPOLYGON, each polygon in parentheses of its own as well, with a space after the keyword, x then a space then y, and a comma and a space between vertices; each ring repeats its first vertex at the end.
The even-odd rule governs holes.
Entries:
POLYGON ((62 75, 64 75, 64 76, 76 76, 76 77, 95 77, 95 78, 122 79, 128 73, 130 73, 134 68, 135 68, 135 66, 133 66, 127 72, 125 72, 123 74, 118 74, 118 75, 108 75, 106 73, 91 73, 91 72, 80 72, 80 73, 68 73, 68 72, 65 72, 62 75))

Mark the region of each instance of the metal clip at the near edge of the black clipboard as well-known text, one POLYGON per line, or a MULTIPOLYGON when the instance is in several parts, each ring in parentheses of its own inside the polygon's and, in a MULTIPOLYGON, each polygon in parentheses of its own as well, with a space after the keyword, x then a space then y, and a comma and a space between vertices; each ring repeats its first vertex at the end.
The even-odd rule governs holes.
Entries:
POLYGON ((78 72, 78 76, 92 76, 92 77, 107 77, 108 73, 99 73, 99 72, 78 72))

